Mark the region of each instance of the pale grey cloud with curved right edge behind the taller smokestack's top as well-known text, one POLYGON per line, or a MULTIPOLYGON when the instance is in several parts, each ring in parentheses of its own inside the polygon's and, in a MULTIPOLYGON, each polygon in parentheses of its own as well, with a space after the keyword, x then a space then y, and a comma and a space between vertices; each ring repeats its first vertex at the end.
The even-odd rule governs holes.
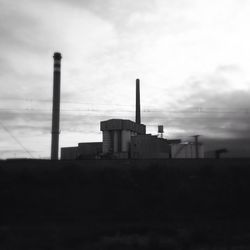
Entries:
MULTIPOLYGON (((115 43, 112 25, 85 9, 49 1, 22 0, 16 6, 3 1, 2 4, 2 12, 8 14, 3 15, 5 26, 0 27, 5 31, 1 58, 9 69, 5 70, 1 85, 11 84, 12 91, 16 90, 15 96, 18 93, 26 97, 51 96, 55 50, 62 51, 63 60, 65 58, 62 64, 63 79, 67 83, 64 91, 82 89, 77 72, 81 72, 81 77, 88 74, 88 84, 91 83, 96 67, 88 61, 95 60, 95 54, 105 53, 106 48, 115 43)), ((6 89, 2 95, 6 92, 10 94, 6 89)))

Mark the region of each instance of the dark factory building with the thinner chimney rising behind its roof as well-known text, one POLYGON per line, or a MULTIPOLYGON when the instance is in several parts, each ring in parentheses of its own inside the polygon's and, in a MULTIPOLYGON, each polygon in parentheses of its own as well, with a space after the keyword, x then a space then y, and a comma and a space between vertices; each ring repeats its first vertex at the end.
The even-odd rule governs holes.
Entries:
MULTIPOLYGON (((197 141, 187 143, 146 134, 146 126, 141 123, 139 79, 136 80, 135 116, 135 122, 124 119, 101 121, 102 142, 61 148, 61 159, 204 158, 203 145, 197 141)), ((163 127, 159 128, 163 132, 163 127)))

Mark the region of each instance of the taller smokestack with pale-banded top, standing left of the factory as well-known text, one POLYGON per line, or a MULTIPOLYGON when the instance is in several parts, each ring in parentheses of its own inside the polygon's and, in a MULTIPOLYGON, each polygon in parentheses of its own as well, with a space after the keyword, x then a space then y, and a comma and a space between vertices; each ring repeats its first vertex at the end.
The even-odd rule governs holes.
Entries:
POLYGON ((53 110, 51 135, 51 160, 58 160, 59 147, 59 121, 60 121, 60 85, 61 85, 61 59, 60 53, 54 53, 53 75, 53 110))

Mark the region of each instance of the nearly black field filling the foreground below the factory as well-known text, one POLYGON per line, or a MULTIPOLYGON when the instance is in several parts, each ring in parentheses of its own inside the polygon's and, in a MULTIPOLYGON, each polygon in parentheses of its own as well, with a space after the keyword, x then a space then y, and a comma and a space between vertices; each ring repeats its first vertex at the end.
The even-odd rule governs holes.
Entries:
POLYGON ((250 160, 0 161, 0 249, 250 249, 250 160))

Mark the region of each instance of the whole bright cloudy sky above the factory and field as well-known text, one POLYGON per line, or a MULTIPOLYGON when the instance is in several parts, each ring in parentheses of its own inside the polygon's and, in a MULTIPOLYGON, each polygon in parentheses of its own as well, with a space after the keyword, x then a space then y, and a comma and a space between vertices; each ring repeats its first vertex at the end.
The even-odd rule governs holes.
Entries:
POLYGON ((53 53, 60 146, 134 120, 250 155, 250 0, 0 0, 0 158, 49 157, 53 53))

